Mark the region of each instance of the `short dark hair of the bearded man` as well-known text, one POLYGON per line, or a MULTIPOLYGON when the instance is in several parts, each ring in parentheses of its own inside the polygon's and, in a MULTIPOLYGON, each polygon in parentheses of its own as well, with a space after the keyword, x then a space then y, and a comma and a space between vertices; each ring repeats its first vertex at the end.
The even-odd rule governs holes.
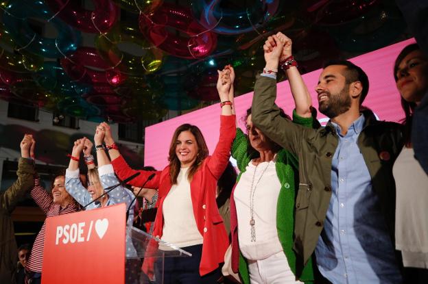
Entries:
POLYGON ((331 65, 342 65, 346 67, 345 73, 342 75, 344 75, 347 84, 355 81, 359 81, 361 83, 361 86, 363 86, 363 90, 361 90, 361 96, 359 98, 359 105, 361 105, 368 94, 369 83, 367 74, 359 66, 348 60, 330 60, 324 64, 323 68, 325 69, 331 65))

